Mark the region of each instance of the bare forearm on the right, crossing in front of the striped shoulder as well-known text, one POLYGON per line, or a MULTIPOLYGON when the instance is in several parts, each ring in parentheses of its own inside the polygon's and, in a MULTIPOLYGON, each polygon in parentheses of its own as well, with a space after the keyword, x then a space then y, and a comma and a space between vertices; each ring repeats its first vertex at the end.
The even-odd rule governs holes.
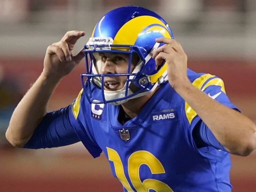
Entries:
POLYGON ((230 153, 248 155, 256 148, 256 127, 249 118, 211 99, 191 83, 175 90, 230 153))

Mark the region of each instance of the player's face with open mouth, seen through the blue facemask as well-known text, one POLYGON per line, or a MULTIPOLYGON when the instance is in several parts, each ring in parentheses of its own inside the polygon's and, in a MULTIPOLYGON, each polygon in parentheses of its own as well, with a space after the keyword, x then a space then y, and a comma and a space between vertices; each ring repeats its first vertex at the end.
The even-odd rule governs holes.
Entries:
MULTIPOLYGON (((102 74, 120 74, 128 72, 129 55, 128 54, 115 54, 115 53, 100 53, 102 74)), ((132 58, 131 70, 133 71, 139 59, 137 55, 132 58)), ((127 76, 104 77, 105 90, 119 90, 124 87, 127 76)))

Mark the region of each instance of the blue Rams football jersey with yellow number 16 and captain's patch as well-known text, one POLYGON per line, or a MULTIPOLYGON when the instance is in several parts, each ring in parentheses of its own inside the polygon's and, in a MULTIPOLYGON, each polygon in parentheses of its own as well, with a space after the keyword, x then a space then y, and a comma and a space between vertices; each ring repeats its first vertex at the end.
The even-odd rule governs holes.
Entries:
MULTIPOLYGON (((188 77, 212 99, 237 109, 220 78, 189 69, 188 77)), ((94 88, 93 94, 100 97, 101 90, 94 88)), ((201 119, 168 82, 124 124, 117 120, 119 109, 89 104, 81 90, 65 108, 68 120, 56 120, 66 131, 63 137, 57 134, 56 140, 65 144, 82 141, 95 158, 103 151, 124 191, 231 191, 229 153, 211 146, 196 147, 192 131, 201 119)))

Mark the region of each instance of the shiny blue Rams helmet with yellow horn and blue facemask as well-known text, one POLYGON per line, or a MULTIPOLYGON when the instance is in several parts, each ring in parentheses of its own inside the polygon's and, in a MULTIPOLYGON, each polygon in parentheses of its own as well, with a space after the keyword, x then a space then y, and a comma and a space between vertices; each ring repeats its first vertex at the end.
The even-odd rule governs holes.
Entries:
POLYGON ((163 62, 156 68, 155 60, 152 59, 155 50, 163 45, 156 43, 155 39, 159 37, 174 38, 164 19, 148 9, 126 6, 104 15, 84 45, 87 72, 81 74, 81 79, 89 102, 120 105, 129 99, 151 93, 157 86, 168 81, 167 63, 163 62), (99 53, 102 52, 128 54, 127 73, 101 74, 99 53), (130 72, 132 55, 135 53, 139 62, 130 72), (119 90, 104 90, 104 77, 107 76, 126 76, 126 83, 119 90), (94 97, 95 88, 101 89, 100 97, 94 97))

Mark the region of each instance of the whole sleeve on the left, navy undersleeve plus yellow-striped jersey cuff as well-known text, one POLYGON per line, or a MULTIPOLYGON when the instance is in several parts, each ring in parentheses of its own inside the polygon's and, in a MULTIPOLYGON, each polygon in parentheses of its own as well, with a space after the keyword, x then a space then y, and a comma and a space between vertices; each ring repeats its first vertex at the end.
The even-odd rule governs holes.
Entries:
POLYGON ((81 141, 94 158, 100 156, 102 150, 90 135, 84 119, 82 92, 68 107, 47 113, 24 148, 52 148, 81 141))

